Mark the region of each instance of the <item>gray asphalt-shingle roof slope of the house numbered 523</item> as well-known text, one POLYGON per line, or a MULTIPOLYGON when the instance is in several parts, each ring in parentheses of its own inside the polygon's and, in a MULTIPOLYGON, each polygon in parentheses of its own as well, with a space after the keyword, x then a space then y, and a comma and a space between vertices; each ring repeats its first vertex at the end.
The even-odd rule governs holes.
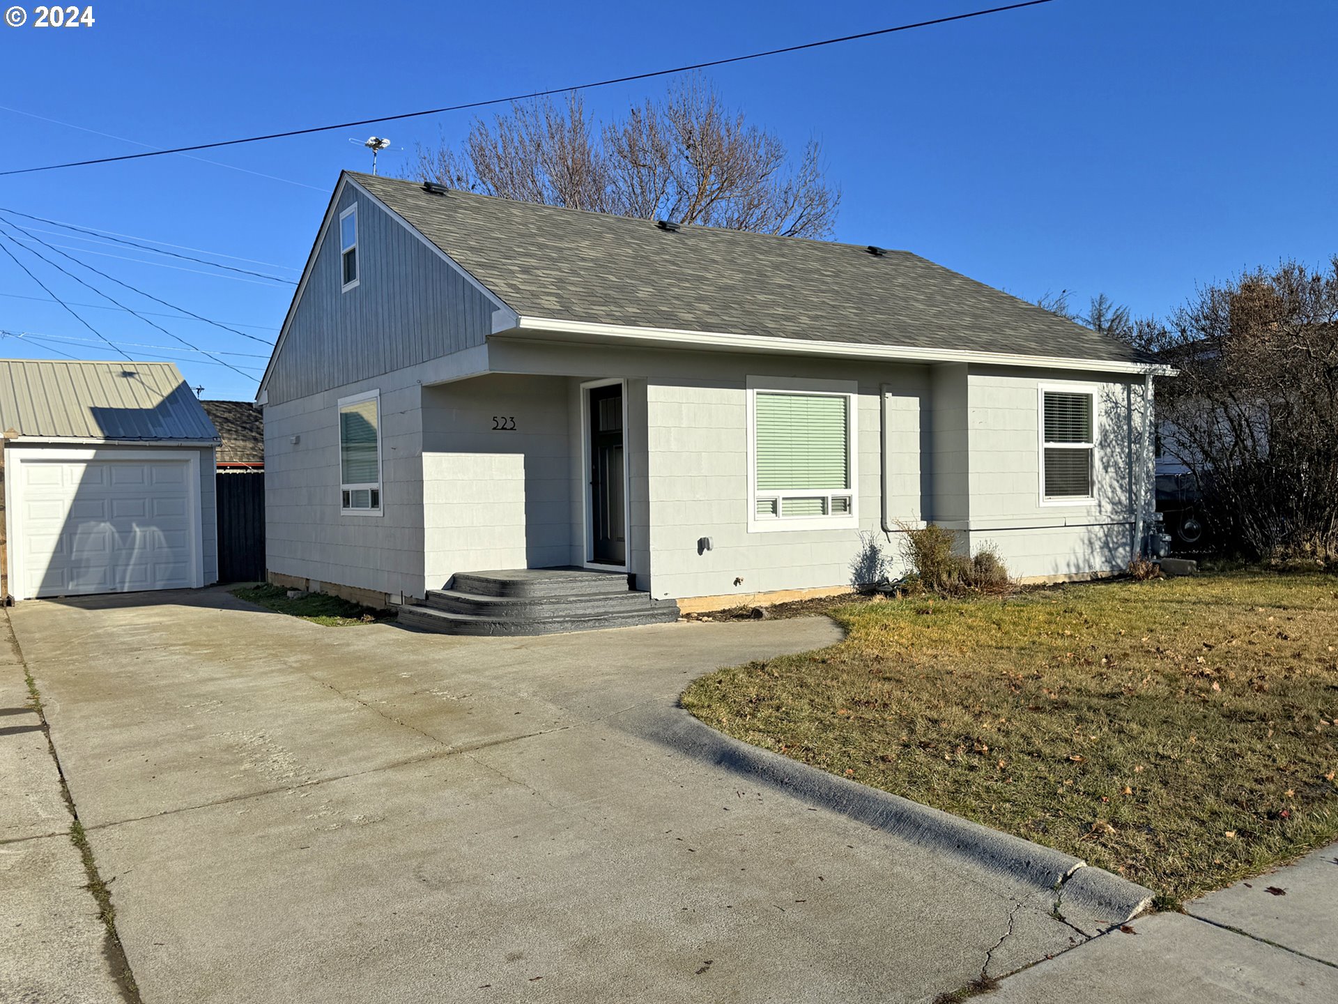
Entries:
POLYGON ((682 226, 349 177, 522 317, 855 345, 1148 363, 904 250, 682 226))

